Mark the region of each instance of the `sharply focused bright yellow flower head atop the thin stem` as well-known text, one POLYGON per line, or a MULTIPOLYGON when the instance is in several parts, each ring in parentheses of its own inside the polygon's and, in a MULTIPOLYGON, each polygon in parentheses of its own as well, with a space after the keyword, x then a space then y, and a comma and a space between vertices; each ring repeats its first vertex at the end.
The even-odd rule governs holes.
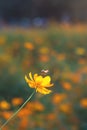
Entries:
POLYGON ((28 85, 31 88, 35 88, 36 92, 39 92, 41 94, 51 93, 51 90, 47 89, 47 87, 53 86, 53 84, 50 83, 51 81, 50 76, 43 77, 42 75, 34 74, 34 78, 33 78, 30 72, 29 78, 30 79, 28 79, 27 76, 25 76, 25 80, 28 83, 28 85))

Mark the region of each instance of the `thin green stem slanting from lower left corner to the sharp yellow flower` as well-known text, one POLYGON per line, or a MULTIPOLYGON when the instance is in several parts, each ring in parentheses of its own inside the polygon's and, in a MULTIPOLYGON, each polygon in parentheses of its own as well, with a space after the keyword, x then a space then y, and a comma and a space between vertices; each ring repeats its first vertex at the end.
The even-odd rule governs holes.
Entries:
POLYGON ((2 128, 4 126, 7 125, 7 123, 16 116, 16 114, 27 104, 27 102, 32 98, 32 96, 34 95, 35 91, 28 97, 28 99, 23 103, 23 105, 0 127, 0 130, 2 130, 2 128))

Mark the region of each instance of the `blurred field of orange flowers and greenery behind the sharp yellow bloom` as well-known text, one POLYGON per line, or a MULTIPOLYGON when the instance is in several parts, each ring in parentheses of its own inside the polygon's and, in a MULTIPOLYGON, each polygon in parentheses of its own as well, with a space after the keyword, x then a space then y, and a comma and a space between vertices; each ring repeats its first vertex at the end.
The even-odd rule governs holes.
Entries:
POLYGON ((0 31, 0 126, 33 89, 24 76, 48 69, 52 93, 36 93, 3 130, 87 130, 87 26, 0 31))

